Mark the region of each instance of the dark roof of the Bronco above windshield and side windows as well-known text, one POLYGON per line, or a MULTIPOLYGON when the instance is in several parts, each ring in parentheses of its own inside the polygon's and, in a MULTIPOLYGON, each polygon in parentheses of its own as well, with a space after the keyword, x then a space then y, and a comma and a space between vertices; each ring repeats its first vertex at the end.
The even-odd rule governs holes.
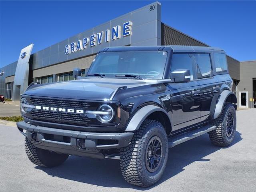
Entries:
POLYGON ((113 52, 113 51, 161 51, 172 49, 173 52, 206 52, 224 50, 217 47, 204 47, 204 46, 186 46, 186 45, 166 45, 166 46, 122 46, 122 47, 108 47, 102 49, 100 52, 113 52))

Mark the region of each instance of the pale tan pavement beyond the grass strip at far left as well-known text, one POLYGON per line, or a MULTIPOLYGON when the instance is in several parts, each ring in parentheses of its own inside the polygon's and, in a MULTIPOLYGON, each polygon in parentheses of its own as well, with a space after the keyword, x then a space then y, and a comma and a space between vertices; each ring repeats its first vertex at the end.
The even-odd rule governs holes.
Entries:
POLYGON ((0 103, 0 117, 20 116, 20 102, 0 103))

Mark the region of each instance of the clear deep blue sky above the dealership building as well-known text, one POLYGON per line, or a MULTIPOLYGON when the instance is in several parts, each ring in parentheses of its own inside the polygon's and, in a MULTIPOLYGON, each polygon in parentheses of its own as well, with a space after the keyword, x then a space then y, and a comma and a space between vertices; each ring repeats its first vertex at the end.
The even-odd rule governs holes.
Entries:
MULTIPOLYGON (((0 67, 154 1, 2 1, 0 67)), ((256 1, 159 1, 162 22, 240 60, 256 60, 256 1)))

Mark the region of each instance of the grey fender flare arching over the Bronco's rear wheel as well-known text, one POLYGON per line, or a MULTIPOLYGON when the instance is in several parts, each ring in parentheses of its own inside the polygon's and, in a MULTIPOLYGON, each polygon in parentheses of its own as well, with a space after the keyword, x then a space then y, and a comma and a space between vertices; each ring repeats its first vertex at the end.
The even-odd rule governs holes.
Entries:
POLYGON ((224 103, 226 102, 227 98, 230 95, 233 95, 232 103, 237 103, 236 95, 232 91, 229 91, 229 90, 222 91, 222 93, 219 96, 219 99, 217 100, 218 102, 216 103, 213 119, 216 119, 220 116, 223 106, 224 106, 224 103))

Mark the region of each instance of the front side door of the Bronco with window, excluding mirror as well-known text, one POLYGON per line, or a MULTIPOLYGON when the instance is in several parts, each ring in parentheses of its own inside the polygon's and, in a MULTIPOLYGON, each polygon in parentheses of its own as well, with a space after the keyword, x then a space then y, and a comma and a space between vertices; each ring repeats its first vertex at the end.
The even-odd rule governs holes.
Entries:
POLYGON ((200 122, 200 85, 194 80, 196 75, 194 54, 174 53, 171 72, 177 69, 190 70, 191 75, 189 82, 168 85, 172 99, 172 131, 200 122))

